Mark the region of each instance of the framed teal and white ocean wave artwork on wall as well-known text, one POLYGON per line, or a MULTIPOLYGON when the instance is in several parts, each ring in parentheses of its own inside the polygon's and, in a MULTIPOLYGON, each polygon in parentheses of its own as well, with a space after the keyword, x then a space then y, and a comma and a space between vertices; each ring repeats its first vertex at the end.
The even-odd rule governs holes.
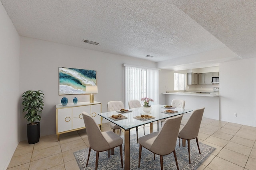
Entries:
POLYGON ((59 67, 59 95, 85 94, 86 86, 96 86, 96 71, 59 67))

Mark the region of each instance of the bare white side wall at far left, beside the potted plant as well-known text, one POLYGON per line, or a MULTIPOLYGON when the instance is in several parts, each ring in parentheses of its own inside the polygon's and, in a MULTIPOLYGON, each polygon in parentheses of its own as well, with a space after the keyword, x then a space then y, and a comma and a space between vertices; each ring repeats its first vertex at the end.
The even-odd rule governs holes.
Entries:
POLYGON ((0 3, 0 169, 7 168, 19 137, 20 37, 0 3))

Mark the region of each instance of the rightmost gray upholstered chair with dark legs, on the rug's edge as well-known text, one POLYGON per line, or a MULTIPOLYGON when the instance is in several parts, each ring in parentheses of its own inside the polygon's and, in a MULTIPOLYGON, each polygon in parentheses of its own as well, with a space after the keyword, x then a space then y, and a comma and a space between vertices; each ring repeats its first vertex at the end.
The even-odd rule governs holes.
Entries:
POLYGON ((204 107, 201 109, 196 109, 192 112, 192 114, 188 118, 187 123, 185 125, 180 125, 180 132, 179 132, 178 138, 186 139, 188 141, 189 164, 191 163, 190 162, 190 140, 191 139, 196 139, 198 151, 201 154, 197 136, 199 133, 203 114, 204 114, 204 107))

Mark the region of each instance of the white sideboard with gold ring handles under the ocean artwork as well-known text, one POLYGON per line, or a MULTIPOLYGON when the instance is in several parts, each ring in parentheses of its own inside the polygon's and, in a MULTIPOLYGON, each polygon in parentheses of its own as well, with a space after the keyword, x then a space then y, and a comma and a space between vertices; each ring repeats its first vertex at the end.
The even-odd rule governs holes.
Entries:
POLYGON ((94 121, 101 127, 102 117, 98 115, 101 113, 101 103, 94 101, 78 102, 77 104, 57 104, 56 106, 56 134, 59 141, 60 134, 68 133, 84 129, 84 119, 82 112, 87 112, 94 121))

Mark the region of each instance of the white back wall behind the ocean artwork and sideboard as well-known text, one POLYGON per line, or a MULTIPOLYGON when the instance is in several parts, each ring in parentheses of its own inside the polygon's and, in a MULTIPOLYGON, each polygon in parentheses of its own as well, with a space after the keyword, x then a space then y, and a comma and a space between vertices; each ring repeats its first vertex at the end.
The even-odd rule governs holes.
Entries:
MULTIPOLYGON (((156 63, 124 57, 99 51, 92 51, 38 39, 20 37, 20 96, 26 90, 42 90, 44 104, 41 136, 56 133, 56 108, 63 97, 72 103, 89 101, 89 95, 58 95, 58 67, 91 69, 97 71, 98 94, 94 100, 102 103, 102 112, 107 111, 111 100, 124 101, 123 64, 141 65, 156 68, 156 63)), ((162 96, 164 100, 164 96, 162 96)), ((21 107, 21 106, 20 106, 21 107)), ((26 140, 26 119, 20 113, 20 140, 26 140)), ((57 138, 56 138, 57 139, 57 138)))

